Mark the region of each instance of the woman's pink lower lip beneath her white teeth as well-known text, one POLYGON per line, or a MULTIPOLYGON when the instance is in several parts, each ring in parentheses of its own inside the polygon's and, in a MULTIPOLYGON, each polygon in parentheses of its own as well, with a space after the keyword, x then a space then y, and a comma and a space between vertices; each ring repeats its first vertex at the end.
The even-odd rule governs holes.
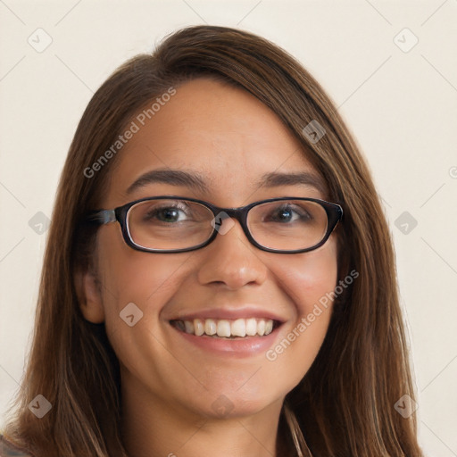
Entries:
POLYGON ((250 357, 259 353, 265 353, 273 345, 275 338, 278 335, 278 328, 265 337, 244 337, 237 339, 225 339, 218 337, 197 337, 191 333, 186 333, 178 328, 170 325, 176 332, 179 333, 189 343, 220 355, 231 355, 237 357, 250 357))

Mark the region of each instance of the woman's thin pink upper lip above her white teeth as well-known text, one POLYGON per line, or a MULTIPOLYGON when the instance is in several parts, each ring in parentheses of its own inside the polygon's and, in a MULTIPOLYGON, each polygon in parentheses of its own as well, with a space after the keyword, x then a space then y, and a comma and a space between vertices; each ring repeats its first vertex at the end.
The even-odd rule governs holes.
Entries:
POLYGON ((279 323, 283 323, 286 319, 278 316, 274 312, 267 310, 262 310, 253 306, 244 306, 243 308, 228 308, 228 307, 219 307, 219 308, 207 308, 200 310, 198 312, 181 312, 178 316, 170 320, 194 320, 194 319, 226 319, 226 320, 236 320, 236 319, 270 319, 278 320, 279 323))

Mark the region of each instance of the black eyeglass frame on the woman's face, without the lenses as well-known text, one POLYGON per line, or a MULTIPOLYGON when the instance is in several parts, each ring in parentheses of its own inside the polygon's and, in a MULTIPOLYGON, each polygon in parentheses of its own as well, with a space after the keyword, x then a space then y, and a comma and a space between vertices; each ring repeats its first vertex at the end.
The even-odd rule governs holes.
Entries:
POLYGON ((195 251, 196 249, 201 249, 202 247, 209 245, 214 241, 216 238, 217 234, 219 233, 218 229, 214 227, 212 231, 212 235, 204 241, 204 243, 201 243, 200 245, 195 245, 191 247, 186 247, 183 249, 150 249, 141 245, 137 245, 133 239, 130 236, 129 233, 129 227, 127 223, 127 216, 129 213, 129 210, 132 206, 139 204, 141 202, 145 202, 148 200, 184 200, 188 202, 195 202, 197 204, 202 204, 206 208, 208 208, 214 218, 220 214, 220 212, 225 212, 227 213, 228 217, 231 217, 233 219, 236 219, 241 227, 243 228, 243 231, 245 232, 245 236, 247 239, 250 241, 252 245, 255 247, 261 249, 262 251, 266 251, 268 253, 307 253, 310 251, 313 251, 314 249, 317 249, 321 245, 324 245, 328 237, 330 237, 331 233, 333 230, 337 227, 337 223, 343 218, 343 208, 339 204, 333 204, 330 202, 327 202, 325 200, 320 200, 318 198, 303 198, 303 197, 291 197, 291 196, 284 196, 284 197, 278 197, 278 198, 269 198, 268 200, 260 200, 257 202, 253 202, 252 204, 247 204, 245 206, 240 206, 238 208, 220 208, 219 206, 215 206, 214 204, 210 204, 208 202, 204 202, 204 200, 198 200, 196 198, 190 198, 190 197, 182 197, 178 195, 160 195, 160 196, 152 196, 152 197, 146 197, 146 198, 141 198, 139 200, 135 200, 134 202, 129 202, 128 204, 123 204, 121 206, 118 206, 117 208, 114 208, 113 210, 97 210, 94 212, 90 212, 87 215, 87 222, 90 223, 96 223, 97 225, 104 225, 104 224, 109 224, 111 222, 118 221, 120 223, 120 228, 122 231, 122 237, 124 238, 124 241, 126 242, 129 247, 132 249, 136 249, 137 251, 142 251, 145 253, 186 253, 189 251, 195 251), (260 245, 255 241, 255 239, 252 237, 251 232, 249 231, 249 228, 247 227, 247 214, 248 212, 254 207, 259 204, 266 204, 270 202, 279 202, 282 200, 302 200, 302 201, 308 201, 308 202, 315 202, 317 204, 320 204, 327 213, 327 231, 324 237, 320 240, 320 242, 316 245, 312 245, 311 247, 306 247, 304 249, 296 249, 294 251, 290 250, 278 250, 278 249, 272 249, 270 247, 266 247, 263 245, 260 245))

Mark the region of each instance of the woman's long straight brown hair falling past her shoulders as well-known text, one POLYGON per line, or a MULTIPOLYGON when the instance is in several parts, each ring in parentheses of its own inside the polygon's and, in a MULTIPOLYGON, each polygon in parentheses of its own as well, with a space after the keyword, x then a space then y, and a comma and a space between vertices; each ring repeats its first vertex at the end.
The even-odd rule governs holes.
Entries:
MULTIPOLYGON (((399 307, 395 255, 370 171, 319 83, 292 56, 262 37, 195 26, 167 37, 153 54, 137 55, 107 79, 87 105, 62 171, 37 303, 36 327, 17 407, 6 434, 37 457, 121 456, 119 363, 104 324, 79 311, 76 270, 92 268, 96 231, 82 224, 98 207, 116 157, 87 178, 145 104, 201 76, 223 79, 278 115, 345 211, 338 227, 339 278, 357 280, 338 297, 316 360, 284 404, 278 455, 421 456, 414 414, 395 411, 414 399, 399 307), (310 141, 317 120, 326 135, 310 141), (86 170, 86 173, 85 173, 86 170), (52 410, 28 409, 44 395, 52 410)), ((120 151, 119 154, 122 154, 120 151)))

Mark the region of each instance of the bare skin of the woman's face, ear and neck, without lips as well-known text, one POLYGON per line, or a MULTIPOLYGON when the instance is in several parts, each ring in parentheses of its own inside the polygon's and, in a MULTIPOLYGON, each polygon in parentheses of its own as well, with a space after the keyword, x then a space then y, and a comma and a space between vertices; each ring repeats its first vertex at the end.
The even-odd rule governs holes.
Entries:
MULTIPOLYGON (((116 157, 103 208, 154 195, 200 198, 222 207, 294 195, 325 198, 315 187, 255 187, 272 171, 317 174, 278 117, 247 92, 212 79, 177 88, 116 157), (148 184, 127 194, 143 173, 195 170, 209 194, 186 186, 148 184)), ((123 437, 136 457, 274 456, 278 418, 287 393, 309 370, 326 335, 331 303, 275 361, 265 353, 237 358, 208 353, 170 327, 178 312, 254 303, 285 323, 277 345, 337 285, 337 238, 309 253, 263 252, 238 222, 212 244, 190 253, 142 253, 102 226, 95 272, 78 278, 81 310, 105 321, 120 360, 123 437), (120 319, 127 303, 143 318, 120 319), (212 403, 224 395, 232 409, 220 417, 212 403)))

